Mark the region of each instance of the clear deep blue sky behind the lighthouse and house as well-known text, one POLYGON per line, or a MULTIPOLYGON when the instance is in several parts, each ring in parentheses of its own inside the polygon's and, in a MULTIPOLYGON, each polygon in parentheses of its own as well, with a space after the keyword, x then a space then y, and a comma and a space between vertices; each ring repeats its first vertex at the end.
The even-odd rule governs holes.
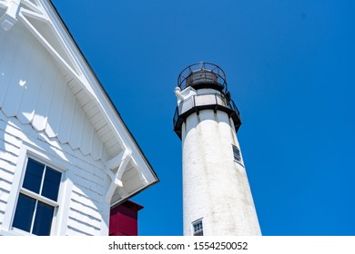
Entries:
POLYGON ((264 235, 355 235, 355 1, 53 0, 160 182, 141 235, 182 235, 177 75, 226 73, 264 235))

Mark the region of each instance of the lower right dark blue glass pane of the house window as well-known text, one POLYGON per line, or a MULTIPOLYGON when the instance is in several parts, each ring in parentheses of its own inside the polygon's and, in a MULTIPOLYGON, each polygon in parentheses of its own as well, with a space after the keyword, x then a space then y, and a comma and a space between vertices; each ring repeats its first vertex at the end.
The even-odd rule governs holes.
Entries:
POLYGON ((32 231, 37 236, 49 236, 52 228, 52 219, 55 208, 38 201, 35 211, 35 225, 32 231))

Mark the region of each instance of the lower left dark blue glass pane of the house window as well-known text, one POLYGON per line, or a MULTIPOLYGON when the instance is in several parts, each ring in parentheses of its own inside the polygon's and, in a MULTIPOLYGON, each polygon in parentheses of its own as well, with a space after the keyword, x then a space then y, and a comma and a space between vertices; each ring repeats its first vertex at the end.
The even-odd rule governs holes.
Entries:
POLYGON ((15 210, 13 227, 29 232, 31 230, 32 218, 34 216, 35 200, 20 194, 18 196, 15 210))

